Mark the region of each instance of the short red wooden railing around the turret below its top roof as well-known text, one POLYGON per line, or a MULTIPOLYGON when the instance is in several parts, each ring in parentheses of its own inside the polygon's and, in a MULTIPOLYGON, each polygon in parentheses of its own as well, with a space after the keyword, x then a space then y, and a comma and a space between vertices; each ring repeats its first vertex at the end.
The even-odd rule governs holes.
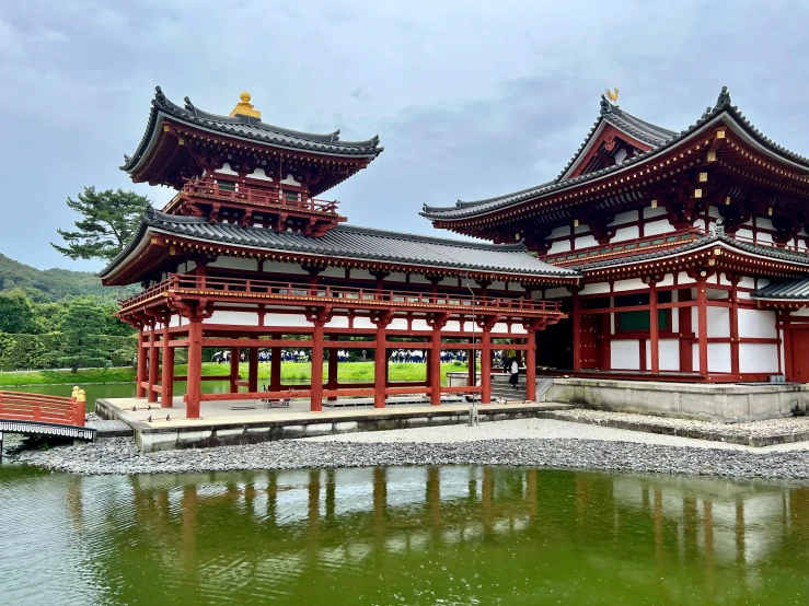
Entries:
POLYGON ((187 180, 183 189, 169 202, 172 207, 181 197, 216 198, 219 200, 249 202, 251 205, 298 210, 303 212, 319 212, 322 214, 337 214, 337 200, 319 200, 309 198, 298 191, 285 191, 275 185, 263 187, 245 186, 241 183, 218 183, 215 179, 187 180))

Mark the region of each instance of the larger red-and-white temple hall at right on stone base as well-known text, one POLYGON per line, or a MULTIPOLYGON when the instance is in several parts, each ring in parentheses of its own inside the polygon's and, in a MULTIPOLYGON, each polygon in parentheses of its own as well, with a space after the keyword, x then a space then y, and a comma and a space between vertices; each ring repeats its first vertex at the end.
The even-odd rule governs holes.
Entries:
POLYGON ((557 376, 806 382, 808 202, 809 159, 724 88, 682 131, 608 93, 553 180, 421 214, 581 277, 533 292, 568 316, 538 342, 538 365, 557 376))

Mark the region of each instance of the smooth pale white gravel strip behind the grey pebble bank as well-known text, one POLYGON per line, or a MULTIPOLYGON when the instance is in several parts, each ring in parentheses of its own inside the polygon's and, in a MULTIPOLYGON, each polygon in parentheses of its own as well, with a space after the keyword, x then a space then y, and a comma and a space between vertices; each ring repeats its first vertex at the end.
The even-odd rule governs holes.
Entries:
MULTIPOLYGON (((571 411, 581 413, 582 410, 571 411)), ((587 411, 593 412, 593 411, 587 411)), ((610 415, 610 413, 608 413, 610 415)), ((613 413, 615 415, 615 413, 613 413)), ((649 417, 628 415, 646 420, 649 417)), ((651 417, 657 419, 657 417, 651 417)), ((663 419, 677 420, 680 419, 663 419)), ((701 421, 687 421, 701 422, 701 421)), ((768 422, 768 421, 763 421, 768 422)), ((718 424, 718 423, 710 423, 718 424)), ((441 426, 414 429, 396 429, 391 431, 369 431, 363 433, 339 433, 336 435, 321 435, 303 438, 300 442, 359 442, 359 443, 455 443, 476 442, 479 440, 594 440, 602 442, 631 442, 634 444, 657 444, 662 446, 683 446, 692 448, 719 448, 773 453, 786 451, 809 451, 809 442, 777 444, 773 446, 743 446, 726 442, 695 440, 677 435, 661 435, 626 429, 613 429, 569 421, 554 421, 551 419, 518 419, 515 421, 483 422, 476 428, 467 426, 441 426)))

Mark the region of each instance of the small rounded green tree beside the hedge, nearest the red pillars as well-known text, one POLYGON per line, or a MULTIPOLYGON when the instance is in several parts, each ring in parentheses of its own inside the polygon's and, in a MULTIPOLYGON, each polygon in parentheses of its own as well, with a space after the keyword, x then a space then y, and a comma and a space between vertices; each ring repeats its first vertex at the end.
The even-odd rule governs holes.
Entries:
POLYGON ((73 372, 81 368, 103 366, 107 352, 101 347, 106 314, 94 296, 79 296, 68 303, 61 318, 65 348, 59 362, 73 372))

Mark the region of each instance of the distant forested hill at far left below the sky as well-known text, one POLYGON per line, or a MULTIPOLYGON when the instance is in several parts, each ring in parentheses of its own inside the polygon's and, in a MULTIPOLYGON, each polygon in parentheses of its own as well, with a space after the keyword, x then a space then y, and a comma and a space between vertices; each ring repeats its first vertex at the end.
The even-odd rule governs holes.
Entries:
MULTIPOLYGON (((66 296, 96 294, 115 296, 116 289, 101 285, 101 279, 89 271, 71 271, 70 269, 36 269, 20 261, 0 255, 0 292, 15 288, 27 290, 32 296, 42 301, 59 301, 66 296)), ((132 289, 128 287, 126 290, 132 289)), ((137 291, 138 289, 132 289, 137 291)))

